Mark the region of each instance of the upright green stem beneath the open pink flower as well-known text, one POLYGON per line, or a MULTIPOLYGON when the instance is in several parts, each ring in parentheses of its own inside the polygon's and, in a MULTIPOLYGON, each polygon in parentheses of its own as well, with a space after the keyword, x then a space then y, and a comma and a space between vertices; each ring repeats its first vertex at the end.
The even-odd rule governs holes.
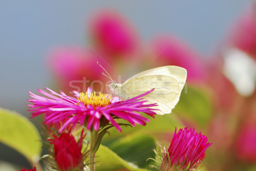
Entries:
POLYGON ((95 154, 93 147, 98 139, 98 131, 91 129, 91 139, 90 139, 90 171, 95 171, 95 154))

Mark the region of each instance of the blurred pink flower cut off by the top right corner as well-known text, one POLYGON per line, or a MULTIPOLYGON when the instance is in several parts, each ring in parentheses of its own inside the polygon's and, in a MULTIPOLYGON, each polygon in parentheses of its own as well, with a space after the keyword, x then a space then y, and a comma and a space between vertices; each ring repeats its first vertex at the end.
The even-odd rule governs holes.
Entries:
POLYGON ((256 59, 256 3, 249 6, 231 27, 229 43, 256 59))

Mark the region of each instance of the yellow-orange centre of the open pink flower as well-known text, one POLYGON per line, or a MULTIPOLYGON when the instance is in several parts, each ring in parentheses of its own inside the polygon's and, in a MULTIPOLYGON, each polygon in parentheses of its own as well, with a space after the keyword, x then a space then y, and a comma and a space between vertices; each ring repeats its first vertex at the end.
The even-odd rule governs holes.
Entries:
POLYGON ((96 93, 80 93, 80 96, 77 97, 78 102, 83 102, 84 105, 92 105, 94 108, 97 106, 104 107, 111 104, 112 96, 109 94, 102 94, 96 95, 96 93), (90 97, 89 97, 90 96, 90 97))

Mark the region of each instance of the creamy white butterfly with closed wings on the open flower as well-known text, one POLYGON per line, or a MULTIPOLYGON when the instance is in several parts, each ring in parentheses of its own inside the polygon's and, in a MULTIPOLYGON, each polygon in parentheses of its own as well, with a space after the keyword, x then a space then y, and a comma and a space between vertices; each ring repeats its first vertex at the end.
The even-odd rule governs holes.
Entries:
POLYGON ((152 107, 157 114, 171 113, 180 98, 186 82, 186 69, 177 66, 164 66, 140 72, 123 84, 110 84, 110 90, 121 100, 131 99, 151 89, 153 92, 144 96, 145 104, 157 103, 152 107))

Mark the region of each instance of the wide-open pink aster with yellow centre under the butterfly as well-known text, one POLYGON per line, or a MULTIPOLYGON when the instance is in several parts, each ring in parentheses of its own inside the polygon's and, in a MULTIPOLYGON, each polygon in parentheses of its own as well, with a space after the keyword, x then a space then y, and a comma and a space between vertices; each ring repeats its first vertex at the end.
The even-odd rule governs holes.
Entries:
POLYGON ((146 125, 149 119, 142 116, 142 112, 154 118, 156 114, 150 107, 157 106, 157 104, 143 104, 143 96, 151 93, 150 90, 140 96, 128 99, 126 101, 119 101, 119 99, 113 98, 109 94, 96 95, 92 93, 89 87, 87 93, 76 93, 76 98, 67 96, 62 91, 58 94, 48 88, 50 93, 43 90, 38 90, 41 94, 47 97, 38 96, 34 93, 30 93, 34 99, 28 101, 33 104, 28 104, 29 111, 33 111, 32 117, 47 113, 44 123, 56 123, 65 120, 64 125, 60 128, 60 132, 63 131, 67 125, 76 124, 85 125, 88 130, 94 128, 99 130, 100 127, 108 125, 109 122, 121 131, 120 125, 114 120, 117 118, 125 119, 130 122, 131 125, 136 126, 146 125))

